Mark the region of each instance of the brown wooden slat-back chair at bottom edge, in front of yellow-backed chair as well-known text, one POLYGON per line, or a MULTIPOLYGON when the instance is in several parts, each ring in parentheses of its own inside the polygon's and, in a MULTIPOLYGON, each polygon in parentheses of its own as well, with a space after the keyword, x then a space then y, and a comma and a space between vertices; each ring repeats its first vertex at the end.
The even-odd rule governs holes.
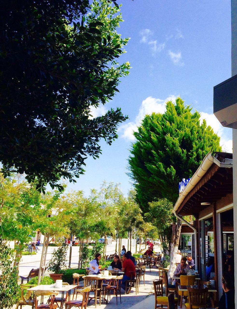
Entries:
POLYGON ((185 303, 185 307, 189 309, 207 308, 207 294, 208 288, 192 289, 188 286, 188 303, 185 303))

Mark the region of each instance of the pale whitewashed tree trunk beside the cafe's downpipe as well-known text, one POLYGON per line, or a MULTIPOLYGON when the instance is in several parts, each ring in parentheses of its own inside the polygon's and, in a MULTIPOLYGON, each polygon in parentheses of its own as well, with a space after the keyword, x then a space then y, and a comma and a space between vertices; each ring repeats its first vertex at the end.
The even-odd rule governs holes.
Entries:
POLYGON ((182 221, 177 219, 172 225, 172 237, 171 237, 171 250, 170 250, 170 269, 168 271, 168 280, 171 283, 171 278, 173 277, 174 271, 176 269, 175 259, 180 241, 182 221))

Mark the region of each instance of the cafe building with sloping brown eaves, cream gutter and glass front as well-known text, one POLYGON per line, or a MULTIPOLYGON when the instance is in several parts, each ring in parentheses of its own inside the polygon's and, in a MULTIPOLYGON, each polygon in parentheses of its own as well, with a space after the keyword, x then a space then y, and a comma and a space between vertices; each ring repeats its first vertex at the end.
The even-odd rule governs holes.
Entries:
POLYGON ((195 217, 194 262, 206 281, 210 279, 206 266, 213 261, 212 275, 221 296, 226 251, 234 249, 232 154, 208 153, 180 194, 173 212, 176 216, 195 217))

